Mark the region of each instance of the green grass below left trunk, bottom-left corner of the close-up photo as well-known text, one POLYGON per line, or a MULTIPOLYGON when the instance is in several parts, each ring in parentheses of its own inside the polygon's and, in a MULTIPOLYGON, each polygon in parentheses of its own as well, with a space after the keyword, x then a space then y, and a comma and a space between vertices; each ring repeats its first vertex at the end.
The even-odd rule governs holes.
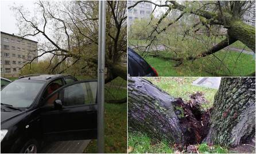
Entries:
POLYGON ((129 153, 173 153, 166 141, 154 141, 141 132, 129 133, 129 153))

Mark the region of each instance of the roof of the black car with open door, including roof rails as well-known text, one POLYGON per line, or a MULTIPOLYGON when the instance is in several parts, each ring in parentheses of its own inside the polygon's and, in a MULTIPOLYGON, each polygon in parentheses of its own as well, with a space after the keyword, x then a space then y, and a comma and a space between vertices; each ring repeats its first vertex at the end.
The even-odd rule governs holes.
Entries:
POLYGON ((61 77, 72 77, 75 78, 69 74, 31 74, 31 75, 25 75, 20 76, 18 80, 50 80, 55 78, 61 78, 61 77))

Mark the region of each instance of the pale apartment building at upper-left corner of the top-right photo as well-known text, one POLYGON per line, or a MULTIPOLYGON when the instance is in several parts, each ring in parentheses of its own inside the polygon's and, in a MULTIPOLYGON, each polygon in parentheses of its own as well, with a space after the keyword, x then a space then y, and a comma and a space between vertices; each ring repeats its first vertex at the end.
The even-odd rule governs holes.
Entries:
MULTIPOLYGON (((128 1, 128 7, 134 5, 137 1, 128 1)), ((133 25, 135 19, 150 18, 152 14, 152 3, 141 2, 132 9, 128 9, 128 26, 133 25)))

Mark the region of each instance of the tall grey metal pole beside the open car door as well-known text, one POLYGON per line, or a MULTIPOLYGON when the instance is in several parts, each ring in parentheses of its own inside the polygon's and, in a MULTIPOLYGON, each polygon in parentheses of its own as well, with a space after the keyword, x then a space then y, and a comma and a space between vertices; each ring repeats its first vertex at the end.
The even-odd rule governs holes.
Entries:
POLYGON ((104 84, 105 84, 106 1, 99 1, 98 35, 98 153, 104 153, 104 84))

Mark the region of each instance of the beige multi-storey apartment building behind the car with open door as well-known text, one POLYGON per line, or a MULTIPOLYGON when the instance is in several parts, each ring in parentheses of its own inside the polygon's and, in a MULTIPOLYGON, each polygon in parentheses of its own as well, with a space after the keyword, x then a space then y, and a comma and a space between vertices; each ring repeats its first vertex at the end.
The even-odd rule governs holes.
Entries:
MULTIPOLYGON (((19 76, 21 67, 38 55, 37 43, 1 31, 1 76, 19 76)), ((33 60, 33 63, 38 63, 38 59, 33 60)))

